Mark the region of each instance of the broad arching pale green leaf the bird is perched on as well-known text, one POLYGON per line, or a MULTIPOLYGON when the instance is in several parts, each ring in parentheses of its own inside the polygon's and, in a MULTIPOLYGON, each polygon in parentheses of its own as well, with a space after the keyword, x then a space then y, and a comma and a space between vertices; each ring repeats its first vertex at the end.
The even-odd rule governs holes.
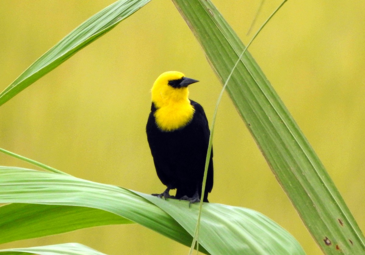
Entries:
MULTIPOLYGON (((189 208, 187 201, 174 199, 166 201, 151 195, 69 175, 0 167, 0 203, 11 202, 97 208, 115 213, 123 217, 123 220, 128 219, 142 224, 187 246, 190 246, 192 241, 199 208, 198 205, 191 205, 189 208)), ((2 208, 6 209, 6 206, 0 207, 0 215, 2 208)), ((199 239, 199 250, 202 252, 304 254, 300 245, 287 231, 258 212, 215 203, 204 204, 203 210, 199 239)), ((34 212, 37 213, 37 209, 34 212)), ((98 215, 94 214, 94 216, 98 215)), ((14 221, 16 217, 13 222, 8 221, 8 223, 16 229, 14 221)), ((64 223, 53 221, 48 216, 43 223, 37 221, 38 229, 42 229, 41 225, 46 225, 49 221, 53 222, 55 233, 59 233, 58 227, 65 229, 64 223)), ((100 219, 92 221, 99 225, 102 222, 100 219)), ((76 229, 78 221, 70 224, 74 224, 76 229)), ((81 227, 84 226, 81 224, 81 227)), ((20 226, 19 229, 23 227, 20 226)), ((23 239, 22 233, 18 233, 18 240, 23 239)), ((47 235, 49 234, 50 230, 47 229, 47 235)), ((7 238, 0 232, 0 243, 7 238)))

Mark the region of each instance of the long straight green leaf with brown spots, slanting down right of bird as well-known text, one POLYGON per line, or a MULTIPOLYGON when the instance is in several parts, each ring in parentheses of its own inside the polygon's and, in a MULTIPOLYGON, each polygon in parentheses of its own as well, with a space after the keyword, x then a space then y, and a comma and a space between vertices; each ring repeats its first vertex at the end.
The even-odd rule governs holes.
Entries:
MULTIPOLYGON (((209 0, 173 0, 224 84, 245 46, 209 0)), ((269 43, 269 42, 268 42, 269 43)), ((325 254, 364 254, 365 239, 318 156, 249 52, 227 92, 325 254)))

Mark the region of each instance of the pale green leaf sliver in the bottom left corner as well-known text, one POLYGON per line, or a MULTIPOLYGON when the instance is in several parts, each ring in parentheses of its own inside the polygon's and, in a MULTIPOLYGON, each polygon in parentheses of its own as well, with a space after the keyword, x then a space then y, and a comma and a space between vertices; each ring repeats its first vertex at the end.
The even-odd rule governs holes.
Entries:
POLYGON ((65 243, 54 244, 47 246, 29 247, 29 248, 15 248, 0 250, 2 255, 25 255, 25 254, 39 254, 39 255, 105 255, 100 251, 96 251, 90 247, 79 243, 65 243))

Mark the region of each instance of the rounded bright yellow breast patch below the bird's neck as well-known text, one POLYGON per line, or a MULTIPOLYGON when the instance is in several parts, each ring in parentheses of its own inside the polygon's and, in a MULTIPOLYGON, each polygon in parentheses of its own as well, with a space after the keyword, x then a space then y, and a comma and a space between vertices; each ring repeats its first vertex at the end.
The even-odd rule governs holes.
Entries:
POLYGON ((161 130, 173 131, 186 126, 192 120, 194 111, 190 101, 174 102, 158 108, 154 117, 161 130))

